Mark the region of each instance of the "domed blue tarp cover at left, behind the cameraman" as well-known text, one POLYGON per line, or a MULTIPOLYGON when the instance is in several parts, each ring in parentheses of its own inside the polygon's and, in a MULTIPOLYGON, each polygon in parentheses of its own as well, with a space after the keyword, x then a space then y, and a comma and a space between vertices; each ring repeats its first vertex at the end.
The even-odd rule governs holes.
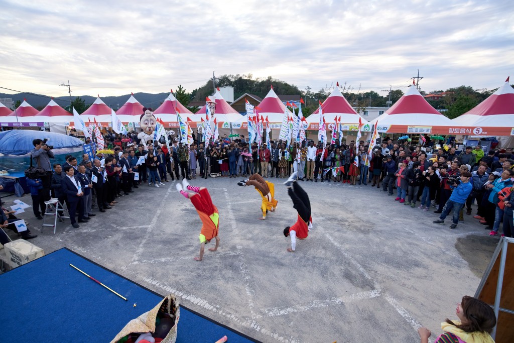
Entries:
POLYGON ((82 147, 84 142, 78 138, 55 132, 35 130, 9 130, 0 132, 0 153, 25 155, 34 149, 32 140, 48 138, 47 144, 53 149, 82 147))

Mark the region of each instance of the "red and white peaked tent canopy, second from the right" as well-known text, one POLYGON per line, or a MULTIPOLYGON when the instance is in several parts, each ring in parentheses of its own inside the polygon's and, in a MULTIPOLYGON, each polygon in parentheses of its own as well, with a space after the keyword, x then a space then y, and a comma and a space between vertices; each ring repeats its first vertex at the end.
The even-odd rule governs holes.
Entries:
POLYGON ((444 133, 452 121, 437 112, 419 92, 410 86, 386 113, 371 121, 378 132, 444 133))

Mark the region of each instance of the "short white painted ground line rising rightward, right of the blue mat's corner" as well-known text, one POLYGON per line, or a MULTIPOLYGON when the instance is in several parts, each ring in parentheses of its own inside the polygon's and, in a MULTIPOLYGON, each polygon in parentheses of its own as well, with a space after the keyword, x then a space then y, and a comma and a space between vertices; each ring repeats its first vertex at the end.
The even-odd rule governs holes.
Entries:
MULTIPOLYGON (((335 298, 330 298, 330 299, 325 299, 325 300, 314 300, 314 301, 309 301, 305 304, 299 304, 299 305, 294 305, 294 306, 279 306, 279 307, 271 308, 271 309, 263 309, 262 311, 265 313, 265 316, 267 316, 267 317, 276 317, 276 316, 283 316, 283 315, 287 315, 287 314, 295 313, 295 312, 304 312, 304 311, 309 311, 309 310, 314 310, 314 309, 325 308, 325 307, 331 306, 331 305, 340 305, 342 303, 348 303, 348 302, 352 302, 352 301, 356 301, 356 300, 376 298, 379 296, 380 296, 379 290, 372 290, 372 291, 368 291, 368 292, 356 293, 356 294, 353 294, 348 297, 335 297, 335 298)), ((260 318, 260 317, 263 317, 263 316, 260 315, 257 318, 260 318)))

